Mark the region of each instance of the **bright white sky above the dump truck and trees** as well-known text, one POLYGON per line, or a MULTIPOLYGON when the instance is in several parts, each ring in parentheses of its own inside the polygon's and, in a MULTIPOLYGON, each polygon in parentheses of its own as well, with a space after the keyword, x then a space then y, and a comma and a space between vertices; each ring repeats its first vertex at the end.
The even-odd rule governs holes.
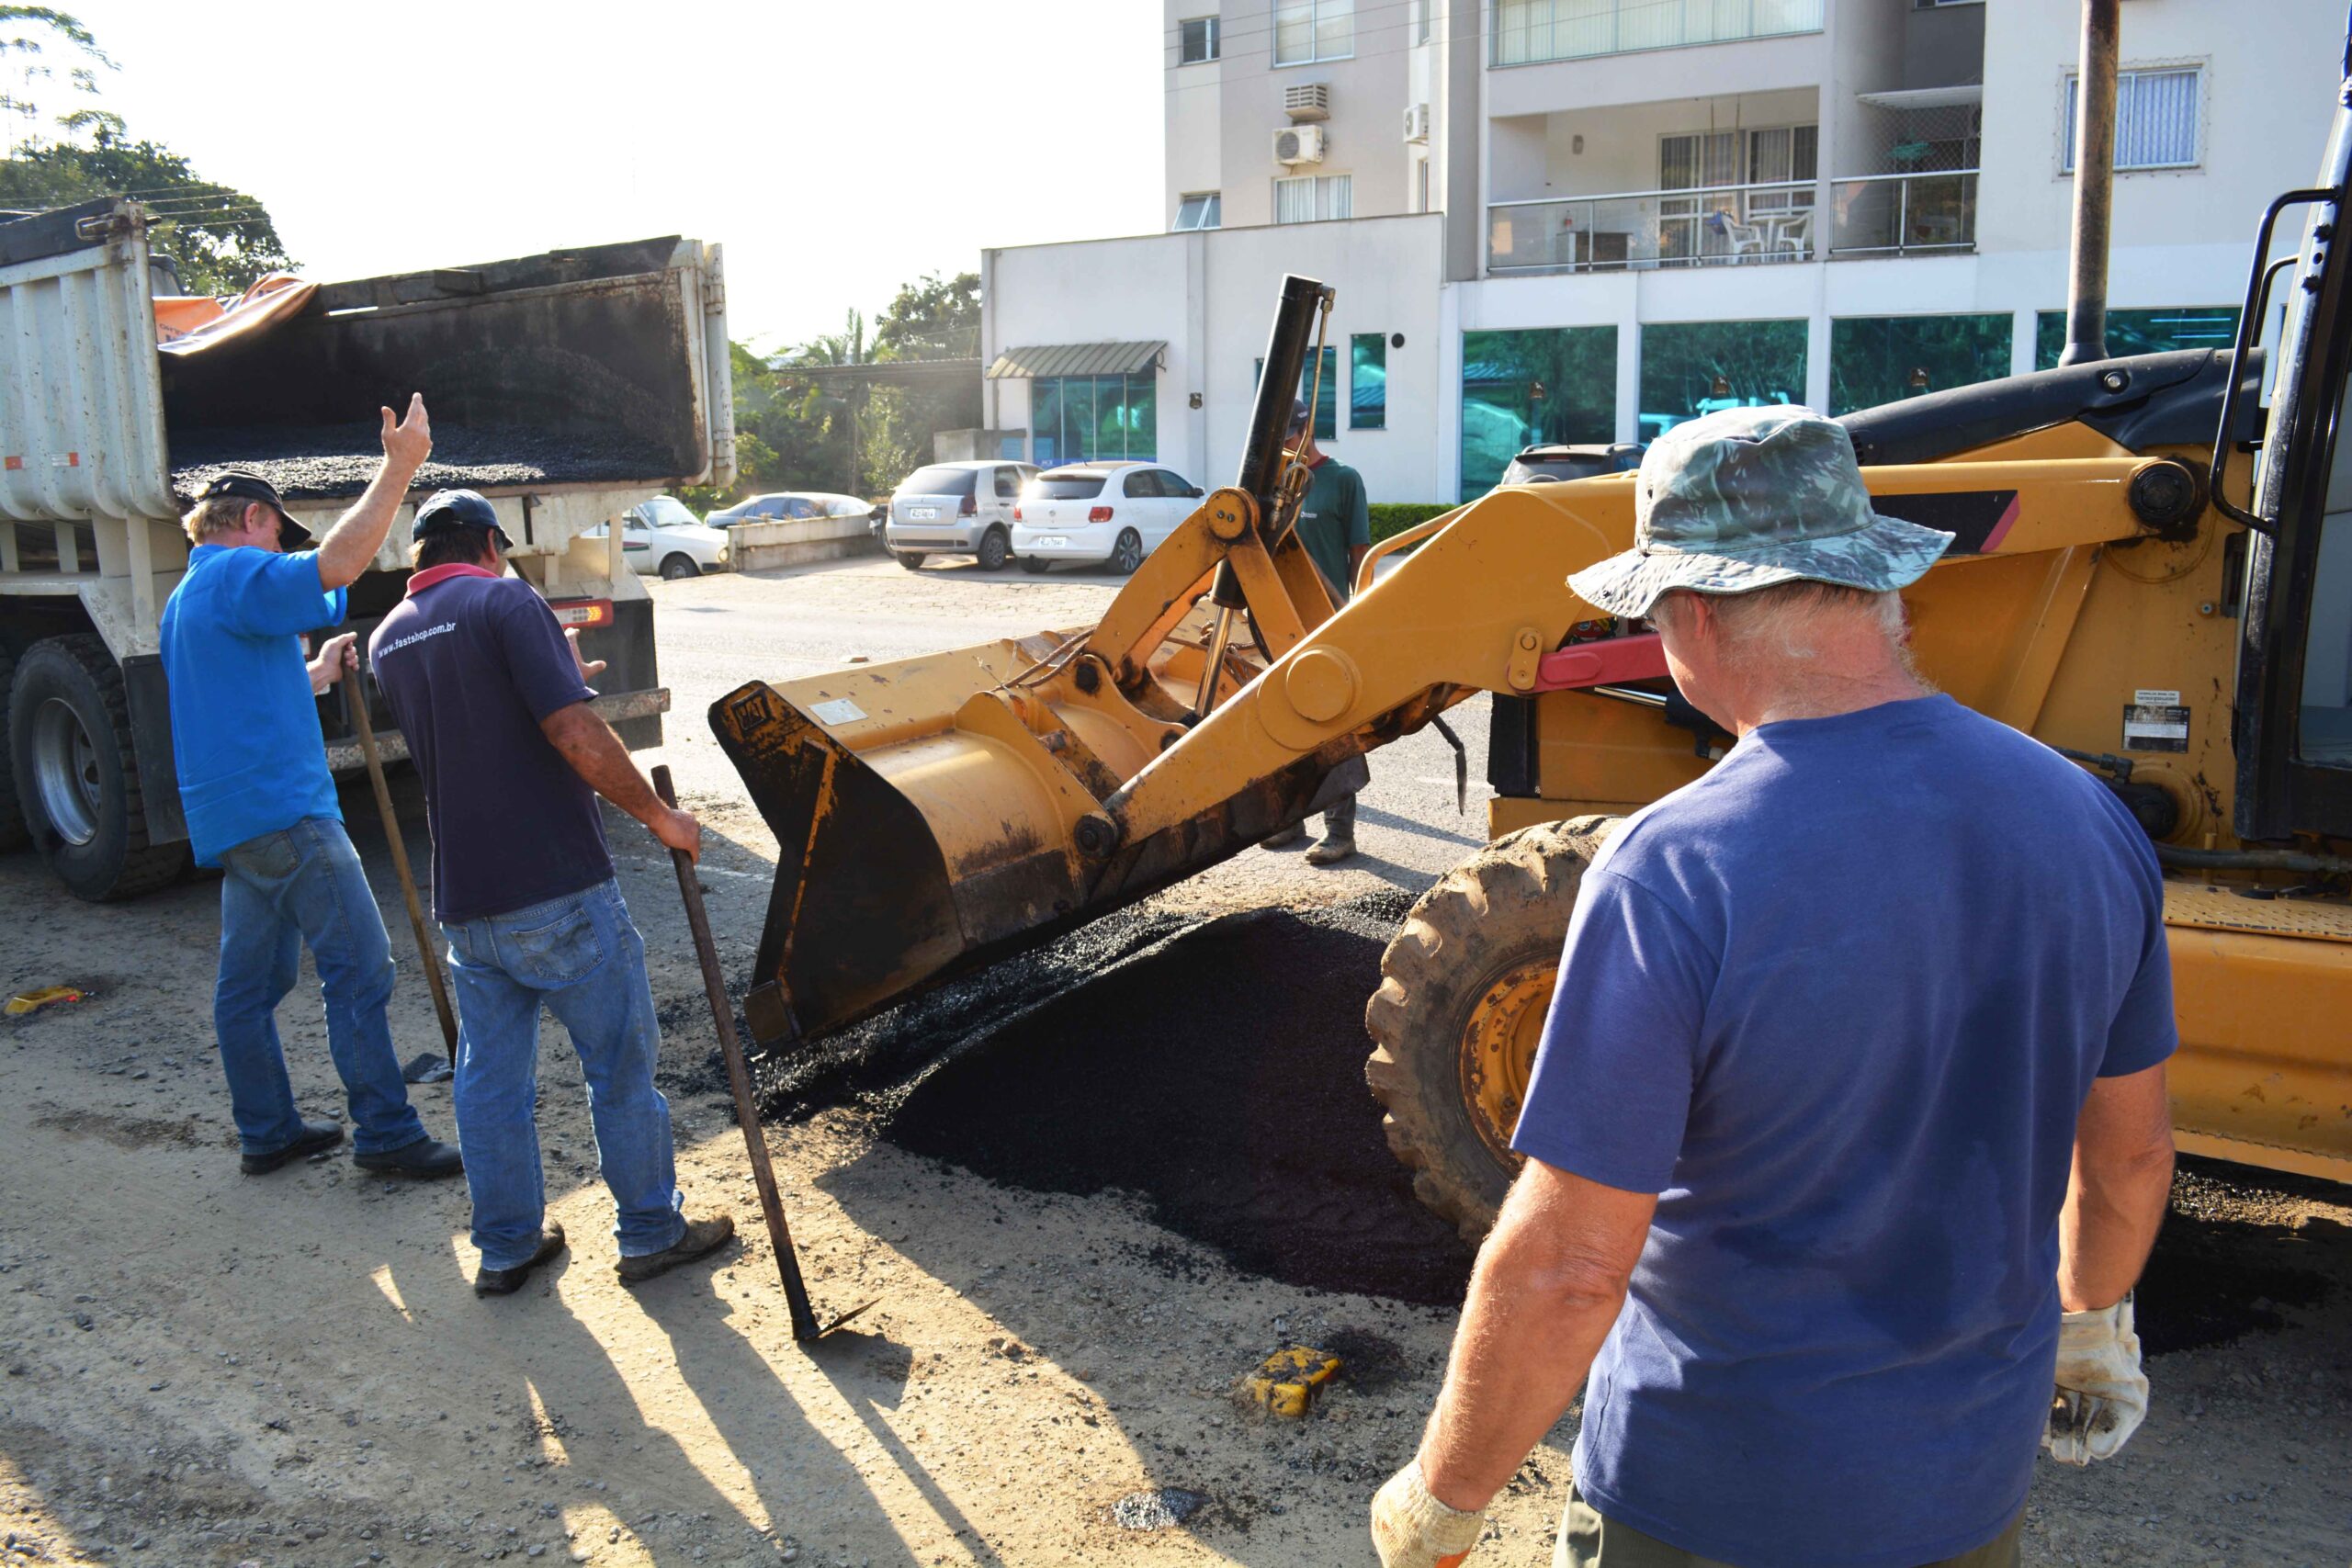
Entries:
POLYGON ((684 233, 774 350, 988 244, 1162 221, 1160 0, 56 2, 132 134, 320 280, 684 233))

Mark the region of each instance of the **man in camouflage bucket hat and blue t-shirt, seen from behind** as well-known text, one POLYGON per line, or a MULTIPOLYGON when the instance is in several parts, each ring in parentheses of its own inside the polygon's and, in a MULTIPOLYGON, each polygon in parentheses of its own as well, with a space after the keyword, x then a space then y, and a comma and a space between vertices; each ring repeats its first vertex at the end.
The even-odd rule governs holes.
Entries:
POLYGON ((1461 1561, 1578 1387, 1562 1566, 2016 1563, 2037 1443, 2105 1460, 2145 1415, 2157 858, 1912 670, 1896 590, 1945 545, 1872 512, 1842 425, 1733 409, 1649 449, 1635 548, 1569 578, 1738 741, 1583 877, 1388 1568, 1461 1561))

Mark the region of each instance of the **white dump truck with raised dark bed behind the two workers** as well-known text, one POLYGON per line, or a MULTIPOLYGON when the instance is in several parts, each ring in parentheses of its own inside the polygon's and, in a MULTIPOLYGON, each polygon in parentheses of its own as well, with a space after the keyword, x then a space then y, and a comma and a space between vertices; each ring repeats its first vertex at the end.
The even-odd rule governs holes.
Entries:
MULTIPOLYGON (((633 745, 661 743, 654 604, 600 524, 677 484, 734 477, 717 244, 677 235, 301 284, 252 329, 158 343, 148 216, 99 200, 0 223, 0 849, 35 844, 82 898, 127 898, 191 865, 158 658, 188 562, 179 517, 207 477, 273 480, 313 534, 374 473, 376 409, 423 393, 442 484, 489 496, 513 564, 588 658, 633 745)), ((176 308, 191 301, 165 301, 176 308)), ((193 301, 205 303, 205 301, 193 301)), ((162 336, 174 336, 169 322, 162 336)), ((395 522, 350 588, 360 632, 400 602, 395 522)), ((362 766, 346 708, 407 757, 372 679, 320 701, 329 766, 362 766)))

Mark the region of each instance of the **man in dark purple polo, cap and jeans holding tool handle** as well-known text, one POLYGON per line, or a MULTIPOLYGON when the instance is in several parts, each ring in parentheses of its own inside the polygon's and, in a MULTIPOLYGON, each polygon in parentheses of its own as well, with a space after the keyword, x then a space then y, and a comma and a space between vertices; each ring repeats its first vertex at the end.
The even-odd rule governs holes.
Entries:
POLYGON ((433 917, 456 976, 456 1135, 473 1192, 475 1295, 510 1295, 564 1251, 539 1164, 539 1009, 572 1032, 588 1074, 597 1164, 619 1206, 619 1274, 635 1284, 715 1251, 724 1213, 687 1220, 670 1103, 654 1088, 661 1027, 644 940, 621 903, 595 797, 689 856, 675 811, 588 705, 555 611, 506 576, 513 541, 470 489, 416 508, 416 574, 369 639, 376 684, 426 780, 433 917))

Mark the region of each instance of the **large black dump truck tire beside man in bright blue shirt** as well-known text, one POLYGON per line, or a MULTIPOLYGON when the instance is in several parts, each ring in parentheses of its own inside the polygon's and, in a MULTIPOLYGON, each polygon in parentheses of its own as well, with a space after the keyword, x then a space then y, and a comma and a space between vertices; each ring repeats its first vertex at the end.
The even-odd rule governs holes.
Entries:
POLYGON ((179 879, 188 846, 148 844, 129 696, 101 637, 26 649, 7 719, 26 830, 75 898, 136 898, 179 879))

